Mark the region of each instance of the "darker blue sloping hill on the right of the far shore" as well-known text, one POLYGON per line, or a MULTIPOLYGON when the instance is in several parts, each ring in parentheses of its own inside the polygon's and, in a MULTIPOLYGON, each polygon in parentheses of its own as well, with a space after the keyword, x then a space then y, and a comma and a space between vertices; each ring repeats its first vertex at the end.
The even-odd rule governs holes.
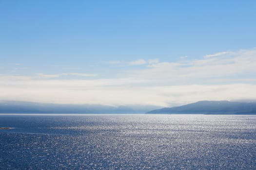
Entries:
POLYGON ((178 107, 166 107, 148 114, 256 114, 256 102, 199 101, 178 107))

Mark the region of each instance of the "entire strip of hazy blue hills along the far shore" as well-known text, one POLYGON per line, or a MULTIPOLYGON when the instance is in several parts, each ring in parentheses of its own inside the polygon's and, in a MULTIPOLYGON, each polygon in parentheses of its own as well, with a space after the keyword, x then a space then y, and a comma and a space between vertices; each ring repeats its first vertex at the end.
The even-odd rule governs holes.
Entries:
POLYGON ((54 104, 38 102, 0 102, 4 114, 230 114, 255 115, 256 102, 199 101, 176 107, 154 105, 108 106, 100 104, 54 104))

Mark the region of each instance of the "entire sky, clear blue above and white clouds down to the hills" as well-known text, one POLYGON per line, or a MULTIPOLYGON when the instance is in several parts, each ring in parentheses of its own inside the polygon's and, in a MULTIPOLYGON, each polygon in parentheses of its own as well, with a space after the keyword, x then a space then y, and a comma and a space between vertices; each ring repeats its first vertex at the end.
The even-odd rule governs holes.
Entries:
POLYGON ((0 101, 255 101, 255 18, 255 0, 0 0, 0 101))

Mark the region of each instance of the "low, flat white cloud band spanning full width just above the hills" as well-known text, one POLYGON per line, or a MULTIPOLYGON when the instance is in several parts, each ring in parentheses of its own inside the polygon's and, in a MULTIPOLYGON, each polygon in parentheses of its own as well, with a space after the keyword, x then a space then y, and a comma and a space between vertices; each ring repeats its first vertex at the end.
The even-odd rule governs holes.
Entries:
POLYGON ((52 80, 0 78, 0 100, 107 105, 169 106, 200 100, 255 99, 256 85, 150 85, 147 80, 52 80), (141 84, 148 85, 141 85, 141 84))

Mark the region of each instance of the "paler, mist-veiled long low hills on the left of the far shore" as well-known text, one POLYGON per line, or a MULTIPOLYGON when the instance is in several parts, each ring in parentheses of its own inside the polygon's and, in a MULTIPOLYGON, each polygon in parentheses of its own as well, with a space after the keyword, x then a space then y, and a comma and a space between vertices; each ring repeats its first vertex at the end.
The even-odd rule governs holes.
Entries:
POLYGON ((58 114, 134 114, 145 113, 159 106, 126 105, 108 106, 100 104, 53 104, 39 102, 0 102, 0 113, 58 113, 58 114))

